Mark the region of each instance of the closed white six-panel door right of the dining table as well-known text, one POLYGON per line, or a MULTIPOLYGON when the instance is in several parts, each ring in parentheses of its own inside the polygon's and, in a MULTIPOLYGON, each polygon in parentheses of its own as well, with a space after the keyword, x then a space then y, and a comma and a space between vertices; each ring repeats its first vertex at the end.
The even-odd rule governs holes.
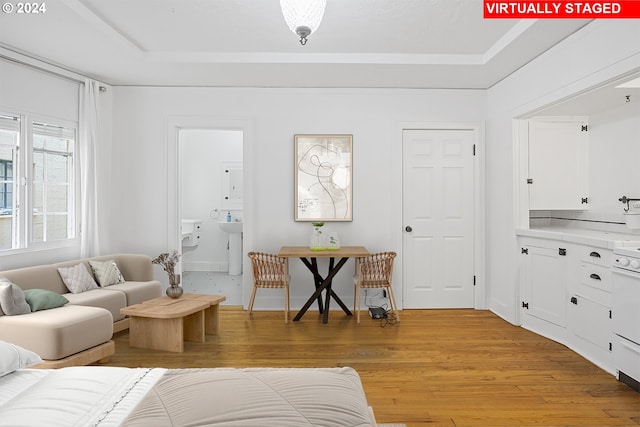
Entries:
POLYGON ((403 306, 474 306, 471 129, 404 130, 403 306))

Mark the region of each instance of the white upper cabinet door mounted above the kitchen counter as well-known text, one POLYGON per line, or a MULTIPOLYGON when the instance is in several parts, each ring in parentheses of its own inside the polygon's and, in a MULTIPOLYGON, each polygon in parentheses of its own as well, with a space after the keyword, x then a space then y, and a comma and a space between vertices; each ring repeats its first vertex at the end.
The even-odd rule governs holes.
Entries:
POLYGON ((528 160, 529 209, 587 209, 586 118, 529 120, 528 160))

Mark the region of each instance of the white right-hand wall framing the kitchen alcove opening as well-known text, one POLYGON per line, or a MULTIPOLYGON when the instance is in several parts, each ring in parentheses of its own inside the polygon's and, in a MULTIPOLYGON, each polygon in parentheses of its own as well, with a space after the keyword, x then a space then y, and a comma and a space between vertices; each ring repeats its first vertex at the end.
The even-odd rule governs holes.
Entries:
POLYGON ((640 69, 640 21, 595 20, 488 91, 489 307, 518 322, 512 120, 640 69))

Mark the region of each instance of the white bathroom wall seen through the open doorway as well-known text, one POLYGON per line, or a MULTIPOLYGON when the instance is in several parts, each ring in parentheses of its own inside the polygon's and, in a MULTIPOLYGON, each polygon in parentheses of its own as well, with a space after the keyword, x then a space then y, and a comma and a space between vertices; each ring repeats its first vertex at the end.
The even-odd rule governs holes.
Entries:
MULTIPOLYGON (((198 246, 182 248, 185 271, 228 271, 229 236, 218 227, 222 208, 222 164, 242 162, 242 132, 215 129, 180 131, 182 218, 202 221, 198 246)), ((231 212, 242 219, 241 210, 231 212)))

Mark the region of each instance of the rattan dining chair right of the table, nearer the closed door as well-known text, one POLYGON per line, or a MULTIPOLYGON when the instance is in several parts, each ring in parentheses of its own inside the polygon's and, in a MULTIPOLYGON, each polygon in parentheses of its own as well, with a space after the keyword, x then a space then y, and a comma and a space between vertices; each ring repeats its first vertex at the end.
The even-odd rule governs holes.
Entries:
POLYGON ((360 289, 386 289, 389 295, 391 310, 395 313, 396 321, 400 321, 396 300, 393 297, 391 278, 393 277, 393 260, 395 252, 378 252, 368 257, 356 259, 356 274, 354 281, 353 310, 357 312, 357 321, 360 323, 360 289), (356 308, 357 304, 357 308, 356 308))

